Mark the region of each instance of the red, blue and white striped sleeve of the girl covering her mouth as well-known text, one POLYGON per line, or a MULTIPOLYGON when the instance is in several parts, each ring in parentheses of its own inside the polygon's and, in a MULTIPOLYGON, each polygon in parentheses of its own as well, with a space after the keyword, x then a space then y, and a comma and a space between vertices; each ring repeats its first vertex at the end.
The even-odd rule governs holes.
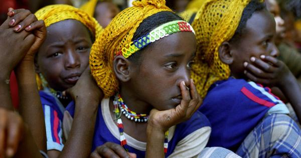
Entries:
POLYGON ((277 96, 273 95, 271 89, 268 87, 263 87, 254 82, 248 82, 248 84, 242 87, 241 92, 253 102, 268 107, 268 114, 287 114, 289 112, 286 105, 277 96))

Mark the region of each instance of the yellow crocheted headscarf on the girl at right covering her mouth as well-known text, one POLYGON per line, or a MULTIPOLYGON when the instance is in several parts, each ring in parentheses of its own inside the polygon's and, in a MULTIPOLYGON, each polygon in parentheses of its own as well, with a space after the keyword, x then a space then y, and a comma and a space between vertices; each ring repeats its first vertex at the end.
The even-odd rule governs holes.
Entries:
POLYGON ((197 56, 191 77, 203 98, 214 82, 230 76, 229 66, 219 59, 218 49, 233 37, 250 1, 206 0, 192 23, 196 32, 197 56))

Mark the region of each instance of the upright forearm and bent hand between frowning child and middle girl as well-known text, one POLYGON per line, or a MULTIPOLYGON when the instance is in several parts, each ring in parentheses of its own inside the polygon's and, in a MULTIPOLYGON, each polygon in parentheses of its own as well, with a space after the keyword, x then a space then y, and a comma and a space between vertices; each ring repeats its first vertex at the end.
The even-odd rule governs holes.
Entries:
POLYGON ((72 127, 62 152, 50 150, 49 157, 88 157, 91 153, 98 105, 103 98, 103 93, 88 68, 76 85, 67 92, 75 101, 72 127))

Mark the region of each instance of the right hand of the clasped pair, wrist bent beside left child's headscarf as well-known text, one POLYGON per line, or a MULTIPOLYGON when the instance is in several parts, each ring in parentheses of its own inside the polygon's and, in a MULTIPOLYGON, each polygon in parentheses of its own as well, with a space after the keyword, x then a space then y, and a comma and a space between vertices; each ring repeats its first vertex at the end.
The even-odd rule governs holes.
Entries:
POLYGON ((21 32, 26 30, 27 32, 32 32, 35 35, 35 42, 27 52, 23 61, 33 62, 35 54, 38 52, 39 47, 42 45, 46 39, 46 26, 43 20, 37 19, 34 14, 31 14, 29 10, 19 9, 13 10, 9 9, 8 16, 11 17, 9 23, 10 27, 14 27, 15 32, 21 32))

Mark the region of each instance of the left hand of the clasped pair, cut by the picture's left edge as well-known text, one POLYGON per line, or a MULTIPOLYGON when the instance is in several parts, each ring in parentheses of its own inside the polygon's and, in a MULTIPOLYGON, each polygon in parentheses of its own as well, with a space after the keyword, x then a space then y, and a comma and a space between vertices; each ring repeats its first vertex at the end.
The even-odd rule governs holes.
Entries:
MULTIPOLYGON (((17 16, 17 15, 16 15, 17 16)), ((27 13, 21 12, 18 14, 16 20, 25 23, 27 20, 27 13)), ((0 71, 2 76, 0 79, 8 79, 12 70, 23 59, 29 48, 35 42, 35 36, 27 31, 15 33, 16 28, 11 28, 15 24, 16 20, 12 17, 8 19, 0 26, 0 71), (14 30, 15 29, 15 30, 14 30)), ((18 29, 17 29, 18 30, 18 29)), ((20 31, 20 30, 19 30, 20 31)))

